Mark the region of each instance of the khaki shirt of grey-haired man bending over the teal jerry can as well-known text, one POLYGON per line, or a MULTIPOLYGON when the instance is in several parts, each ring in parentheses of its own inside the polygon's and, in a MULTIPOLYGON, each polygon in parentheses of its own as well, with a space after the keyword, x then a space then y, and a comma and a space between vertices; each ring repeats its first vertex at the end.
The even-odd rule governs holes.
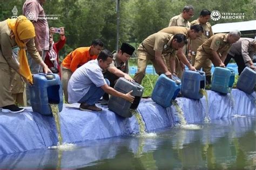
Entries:
POLYGON ((231 44, 227 42, 227 35, 225 33, 215 34, 211 38, 207 39, 198 50, 212 55, 212 50, 217 53, 223 54, 228 52, 231 48, 231 44))

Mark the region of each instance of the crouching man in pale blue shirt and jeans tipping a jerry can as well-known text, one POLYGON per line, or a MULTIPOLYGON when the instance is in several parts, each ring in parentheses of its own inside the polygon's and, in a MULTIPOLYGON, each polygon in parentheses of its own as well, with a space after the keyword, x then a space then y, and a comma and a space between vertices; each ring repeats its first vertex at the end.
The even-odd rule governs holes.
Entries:
POLYGON ((133 102, 132 91, 127 94, 120 93, 109 87, 109 80, 104 79, 103 70, 106 70, 113 61, 113 55, 107 49, 99 53, 96 60, 91 60, 76 69, 68 84, 69 103, 81 103, 80 110, 102 111, 96 107, 104 92, 113 96, 122 97, 133 102))

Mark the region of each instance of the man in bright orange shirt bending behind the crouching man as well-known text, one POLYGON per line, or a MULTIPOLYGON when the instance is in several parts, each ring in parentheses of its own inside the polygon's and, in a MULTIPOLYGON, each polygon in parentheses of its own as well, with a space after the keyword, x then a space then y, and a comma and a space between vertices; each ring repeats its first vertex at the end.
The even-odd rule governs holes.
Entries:
POLYGON ((69 53, 62 61, 62 86, 65 101, 68 102, 68 83, 75 70, 90 60, 97 59, 98 54, 103 50, 104 44, 101 40, 95 39, 90 47, 80 47, 69 53))

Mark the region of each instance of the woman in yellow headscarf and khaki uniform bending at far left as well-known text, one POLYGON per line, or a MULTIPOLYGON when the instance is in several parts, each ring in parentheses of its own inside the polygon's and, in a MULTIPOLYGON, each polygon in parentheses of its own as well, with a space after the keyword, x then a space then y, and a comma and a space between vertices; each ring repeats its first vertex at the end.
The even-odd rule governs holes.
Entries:
POLYGON ((25 47, 32 58, 43 67, 45 73, 51 73, 39 55, 34 42, 35 28, 25 16, 6 19, 0 22, 0 108, 2 112, 22 112, 24 109, 15 105, 10 91, 10 68, 32 84, 32 74, 26 58, 25 47), (19 47, 19 61, 12 57, 12 47, 19 47))

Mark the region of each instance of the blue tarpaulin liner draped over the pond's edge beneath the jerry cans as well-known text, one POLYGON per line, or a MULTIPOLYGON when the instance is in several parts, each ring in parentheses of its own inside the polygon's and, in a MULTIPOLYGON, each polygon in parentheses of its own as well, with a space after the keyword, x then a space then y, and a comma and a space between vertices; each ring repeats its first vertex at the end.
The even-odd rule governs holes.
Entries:
MULTIPOLYGON (((255 92, 251 95, 238 89, 232 95, 221 95, 208 90, 208 113, 211 120, 232 115, 255 115, 255 92)), ((187 123, 204 121, 206 100, 178 97, 187 123)), ((102 106, 100 106, 102 107, 102 106)), ((173 126, 179 122, 176 108, 163 108, 151 99, 143 99, 137 109, 142 115, 146 131, 173 126)), ((63 142, 76 143, 95 139, 124 136, 139 132, 136 118, 123 118, 107 107, 103 111, 80 111, 79 104, 65 104, 60 112, 63 142)), ((43 116, 27 107, 24 112, 0 112, 0 154, 28 151, 57 145, 57 130, 52 116, 43 116)))

